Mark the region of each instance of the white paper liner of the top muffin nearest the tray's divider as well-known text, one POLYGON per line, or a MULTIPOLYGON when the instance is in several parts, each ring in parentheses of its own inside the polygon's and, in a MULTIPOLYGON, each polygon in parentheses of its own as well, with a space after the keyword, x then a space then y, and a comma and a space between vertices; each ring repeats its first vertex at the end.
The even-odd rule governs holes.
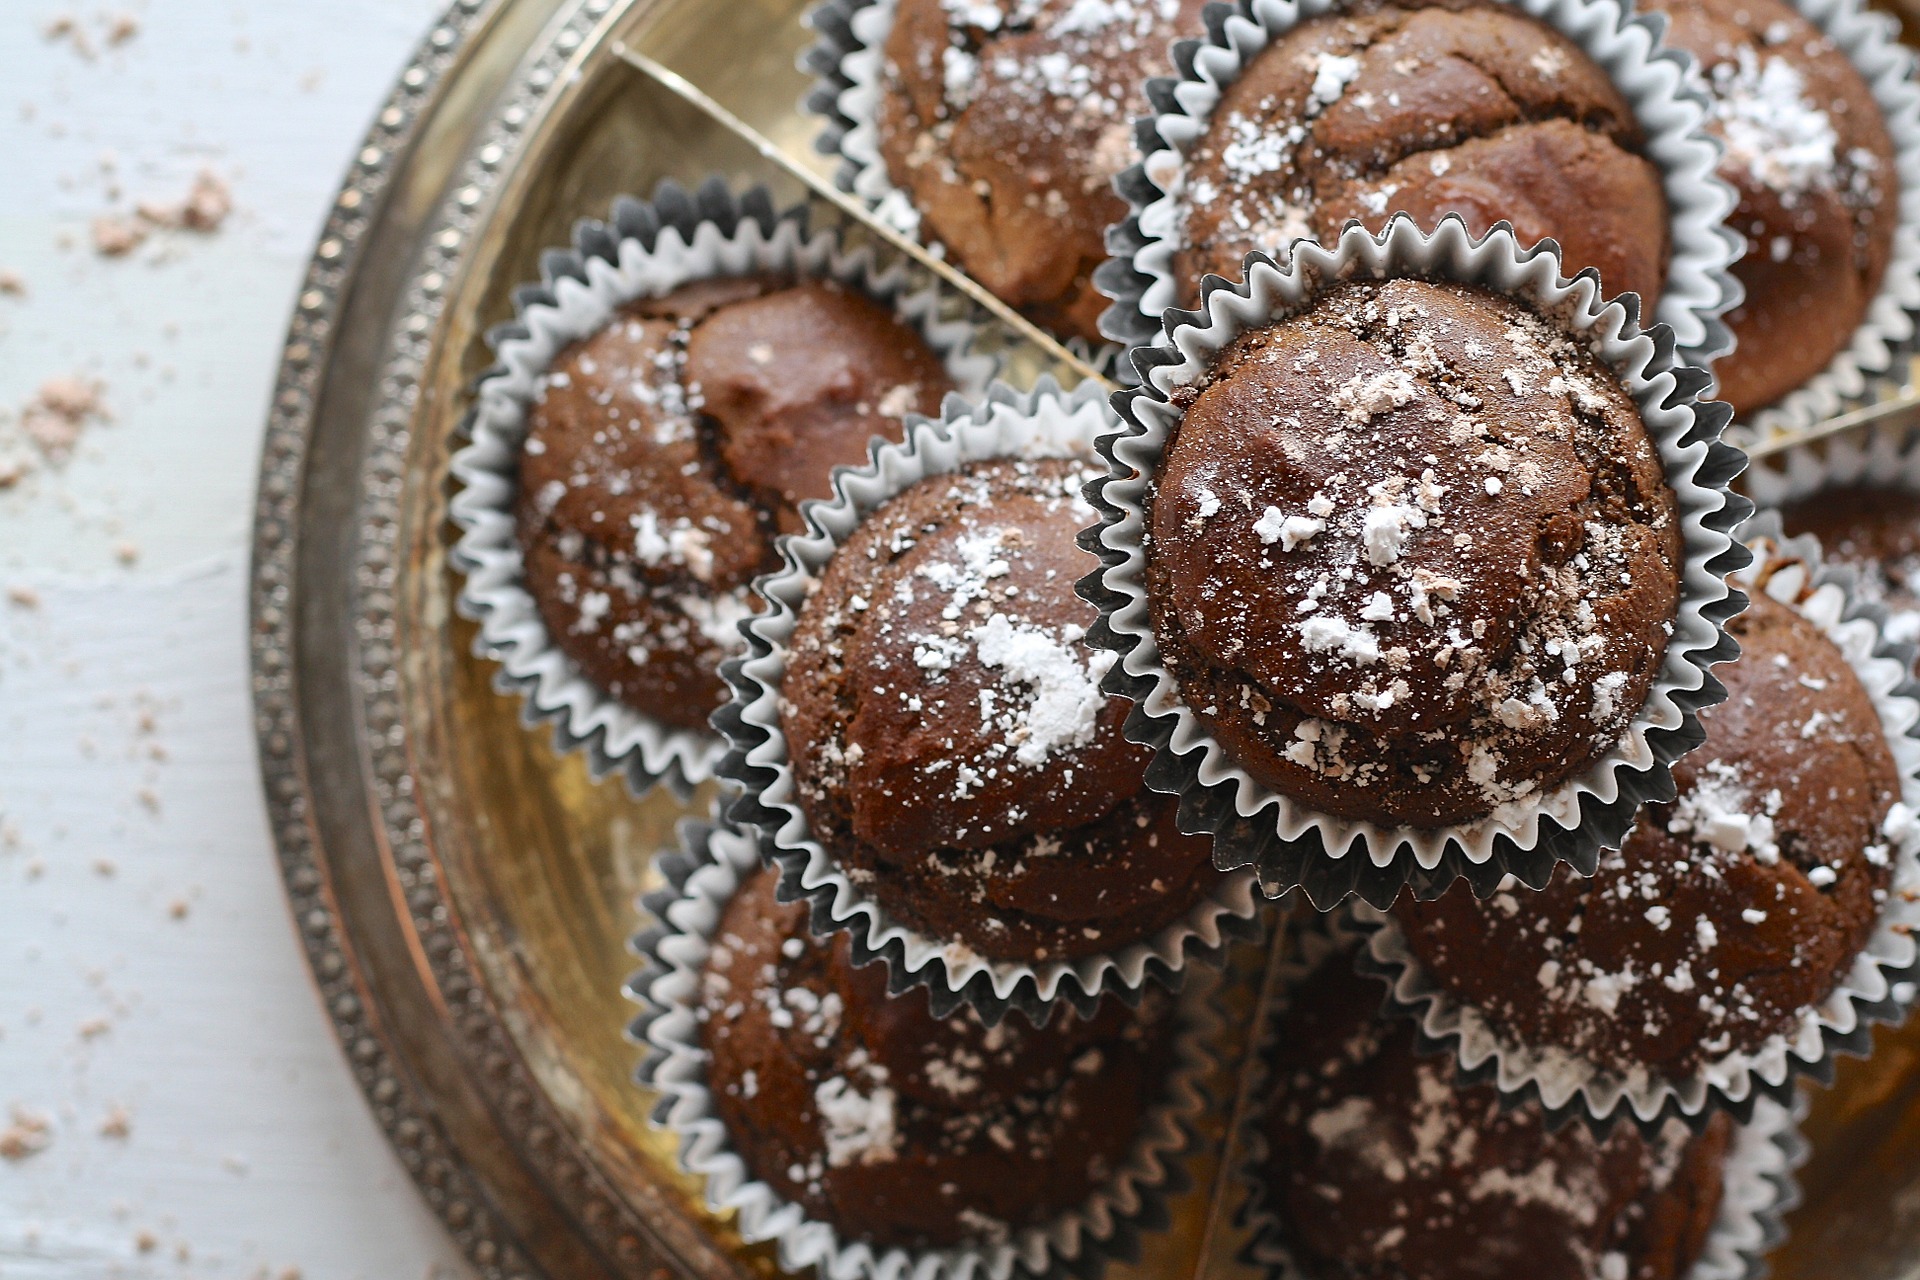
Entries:
MULTIPOLYGON (((799 61, 801 71, 812 73, 816 83, 801 98, 801 109, 822 119, 814 150, 839 157, 835 184, 866 201, 887 226, 945 257, 945 246, 922 236, 920 209, 908 192, 893 184, 879 154, 879 129, 874 121, 897 4, 899 0, 822 0, 806 12, 814 44, 799 61)), ((1094 368, 1112 368, 1123 349, 1119 344, 1092 344, 1079 336, 1062 338, 1062 344, 1094 368)))

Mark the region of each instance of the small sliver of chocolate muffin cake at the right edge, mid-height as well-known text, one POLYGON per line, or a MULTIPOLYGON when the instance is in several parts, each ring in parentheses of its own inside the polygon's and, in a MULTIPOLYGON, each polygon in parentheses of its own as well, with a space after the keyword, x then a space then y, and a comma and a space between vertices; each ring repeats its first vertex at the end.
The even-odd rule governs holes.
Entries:
POLYGON ((1859 572, 1859 593, 1887 606, 1887 639, 1920 641, 1920 493, 1845 486, 1780 510, 1788 537, 1812 533, 1830 562, 1859 572))

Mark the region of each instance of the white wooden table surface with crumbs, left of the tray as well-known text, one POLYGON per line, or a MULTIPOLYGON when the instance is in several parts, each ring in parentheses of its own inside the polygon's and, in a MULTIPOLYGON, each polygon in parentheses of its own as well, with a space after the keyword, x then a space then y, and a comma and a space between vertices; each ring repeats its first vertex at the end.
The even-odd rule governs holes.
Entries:
POLYGON ((296 946, 244 629, 296 282, 438 4, 109 8, 0 0, 0 451, 46 378, 111 411, 0 487, 0 1278, 451 1280, 296 946), (219 232, 94 251, 200 169, 219 232))

